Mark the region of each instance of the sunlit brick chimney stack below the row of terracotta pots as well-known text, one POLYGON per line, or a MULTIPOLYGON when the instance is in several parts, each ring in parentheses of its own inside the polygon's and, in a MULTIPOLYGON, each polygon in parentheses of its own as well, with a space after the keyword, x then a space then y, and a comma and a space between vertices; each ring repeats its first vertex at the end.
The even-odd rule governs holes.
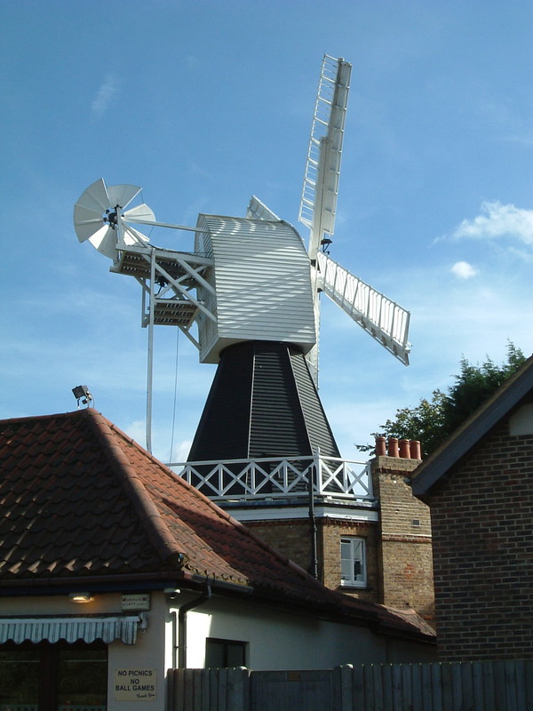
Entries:
POLYGON ((433 555, 429 507, 413 497, 407 479, 417 459, 377 457, 374 491, 379 500, 380 602, 412 608, 434 621, 433 555))

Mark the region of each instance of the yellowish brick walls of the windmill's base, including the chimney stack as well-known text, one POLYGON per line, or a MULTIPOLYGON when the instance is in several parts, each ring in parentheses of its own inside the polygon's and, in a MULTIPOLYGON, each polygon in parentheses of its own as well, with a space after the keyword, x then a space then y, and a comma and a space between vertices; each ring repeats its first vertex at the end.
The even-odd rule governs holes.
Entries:
MULTIPOLYGON (((319 579, 326 587, 363 600, 412 608, 434 622, 434 587, 429 507, 412 495, 406 478, 418 459, 380 456, 372 462, 379 521, 317 518, 319 579), (367 586, 340 585, 340 539, 366 541, 367 586)), ((307 518, 247 521, 260 538, 311 571, 312 538, 307 518)))

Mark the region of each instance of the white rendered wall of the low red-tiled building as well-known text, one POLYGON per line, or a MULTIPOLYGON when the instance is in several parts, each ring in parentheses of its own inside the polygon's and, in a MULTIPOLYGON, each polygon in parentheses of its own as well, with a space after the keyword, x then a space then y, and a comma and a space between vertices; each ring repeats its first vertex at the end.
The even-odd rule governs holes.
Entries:
MULTIPOLYGON (((166 672, 177 666, 179 608, 197 593, 180 593, 173 601, 163 592, 151 594, 151 609, 143 614, 147 629, 133 645, 108 645, 108 711, 165 711, 166 672), (115 699, 117 670, 155 670, 155 699, 115 699)), ((122 595, 95 595, 87 604, 68 601, 67 595, 0 598, 0 616, 76 615, 122 611, 122 595)), ((137 614, 127 612, 125 614, 137 614)), ((246 642, 246 666, 256 670, 328 669, 341 664, 386 661, 434 661, 433 648, 391 641, 365 627, 342 625, 298 612, 276 611, 243 599, 213 597, 187 613, 187 667, 202 668, 208 637, 246 642)))

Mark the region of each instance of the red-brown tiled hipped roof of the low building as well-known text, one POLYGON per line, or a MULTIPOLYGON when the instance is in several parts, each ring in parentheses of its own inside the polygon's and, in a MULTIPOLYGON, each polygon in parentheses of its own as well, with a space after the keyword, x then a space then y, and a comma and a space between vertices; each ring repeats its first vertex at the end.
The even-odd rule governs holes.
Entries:
POLYGON ((323 587, 91 409, 0 421, 0 506, 0 588, 208 578, 421 631, 417 620, 323 587))

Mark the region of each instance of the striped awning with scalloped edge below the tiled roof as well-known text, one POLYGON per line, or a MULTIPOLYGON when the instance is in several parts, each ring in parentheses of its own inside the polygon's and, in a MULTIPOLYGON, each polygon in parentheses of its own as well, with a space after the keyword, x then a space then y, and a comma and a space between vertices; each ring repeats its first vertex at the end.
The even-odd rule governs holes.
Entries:
POLYGON ((111 643, 120 639, 124 644, 135 644, 139 625, 144 627, 144 619, 139 615, 0 618, 0 643, 38 643, 44 640, 51 643, 83 640, 89 643, 97 639, 111 643))

